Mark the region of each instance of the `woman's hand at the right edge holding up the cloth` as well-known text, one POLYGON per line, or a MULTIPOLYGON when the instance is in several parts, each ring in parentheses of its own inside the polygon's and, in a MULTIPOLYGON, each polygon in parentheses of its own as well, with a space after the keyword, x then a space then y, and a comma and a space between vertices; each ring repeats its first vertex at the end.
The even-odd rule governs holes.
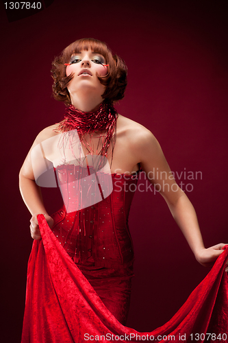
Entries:
MULTIPOLYGON (((211 246, 210 248, 203 248, 197 252, 196 259, 201 265, 208 267, 214 264, 218 256, 223 253, 223 247, 226 244, 220 243, 216 244, 216 246, 211 246)), ((228 260, 227 263, 228 265, 228 260)), ((225 272, 228 272, 228 266, 225 268, 225 272)))

